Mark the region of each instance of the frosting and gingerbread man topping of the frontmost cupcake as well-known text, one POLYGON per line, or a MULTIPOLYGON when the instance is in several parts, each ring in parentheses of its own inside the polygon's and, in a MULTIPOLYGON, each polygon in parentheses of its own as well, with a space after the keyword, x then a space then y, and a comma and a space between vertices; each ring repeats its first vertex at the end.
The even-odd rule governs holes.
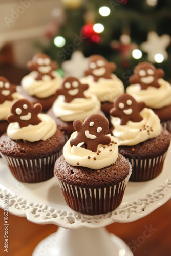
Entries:
POLYGON ((75 120, 76 130, 63 147, 63 156, 72 166, 101 169, 118 158, 118 145, 114 137, 106 135, 109 121, 100 114, 93 114, 84 122, 75 120))

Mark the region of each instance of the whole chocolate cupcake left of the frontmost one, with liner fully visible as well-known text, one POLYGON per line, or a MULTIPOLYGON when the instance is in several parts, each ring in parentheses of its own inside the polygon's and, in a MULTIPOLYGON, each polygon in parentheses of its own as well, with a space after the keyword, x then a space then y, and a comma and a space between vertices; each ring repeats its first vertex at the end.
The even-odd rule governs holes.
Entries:
POLYGON ((36 183, 53 177, 56 159, 65 144, 54 120, 40 113, 42 106, 27 99, 15 101, 8 116, 7 132, 0 137, 0 152, 12 175, 36 183))

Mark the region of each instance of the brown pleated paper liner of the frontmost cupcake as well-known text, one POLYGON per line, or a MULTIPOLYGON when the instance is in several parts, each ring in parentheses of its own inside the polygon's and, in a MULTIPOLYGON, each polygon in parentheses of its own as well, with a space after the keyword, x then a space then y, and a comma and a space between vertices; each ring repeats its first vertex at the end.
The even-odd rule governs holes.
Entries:
POLYGON ((106 214, 120 205, 129 178, 130 175, 119 184, 105 188, 81 188, 58 181, 70 208, 82 214, 96 215, 106 214))

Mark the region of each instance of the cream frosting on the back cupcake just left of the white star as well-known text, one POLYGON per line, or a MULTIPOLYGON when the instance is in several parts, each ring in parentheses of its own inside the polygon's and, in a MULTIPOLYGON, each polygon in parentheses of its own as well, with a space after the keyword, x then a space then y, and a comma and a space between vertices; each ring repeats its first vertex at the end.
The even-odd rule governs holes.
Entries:
POLYGON ((56 72, 52 72, 54 79, 50 76, 45 75, 43 80, 37 81, 35 77, 37 76, 36 71, 32 71, 29 75, 23 77, 21 85, 24 91, 31 96, 36 96, 38 98, 47 98, 55 94, 56 90, 60 88, 62 78, 56 72))

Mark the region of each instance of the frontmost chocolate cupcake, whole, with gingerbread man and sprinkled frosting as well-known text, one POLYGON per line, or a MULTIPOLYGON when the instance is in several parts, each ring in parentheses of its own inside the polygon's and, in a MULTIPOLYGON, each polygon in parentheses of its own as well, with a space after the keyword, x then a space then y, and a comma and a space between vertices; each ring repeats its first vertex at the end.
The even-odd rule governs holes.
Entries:
POLYGON ((82 214, 105 214, 116 209, 131 174, 131 164, 118 153, 109 121, 93 114, 73 122, 75 132, 56 160, 54 174, 69 207, 82 214))

